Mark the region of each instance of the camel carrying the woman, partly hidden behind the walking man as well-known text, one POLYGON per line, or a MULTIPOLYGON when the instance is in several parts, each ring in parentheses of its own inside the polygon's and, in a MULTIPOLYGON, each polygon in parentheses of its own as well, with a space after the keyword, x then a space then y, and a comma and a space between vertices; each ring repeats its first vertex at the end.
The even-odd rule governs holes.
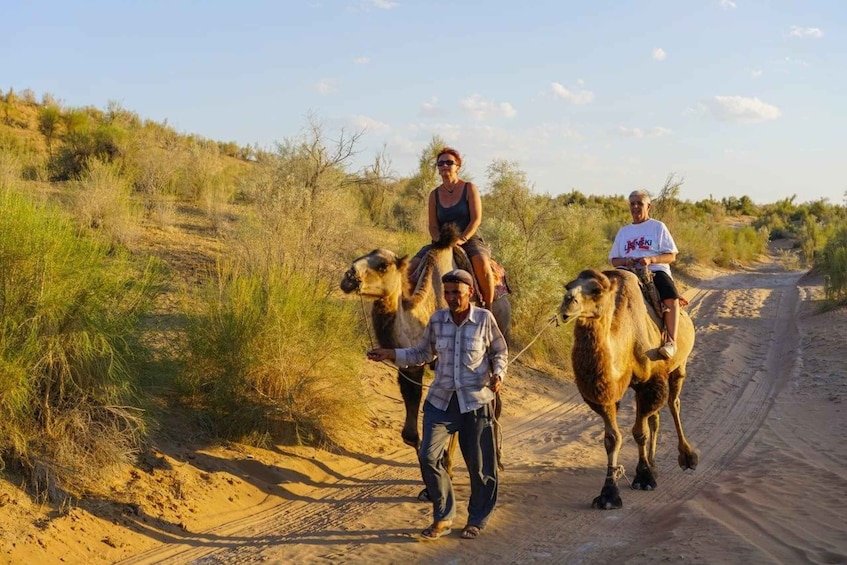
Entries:
MULTIPOLYGON (((454 268, 454 255, 458 258, 456 263, 460 268, 473 273, 464 251, 456 245, 458 238, 459 233, 452 224, 442 229, 441 237, 433 242, 432 250, 421 261, 414 288, 408 273, 409 257, 400 257, 388 249, 374 249, 357 258, 344 273, 340 285, 342 291, 347 294, 358 292, 362 297, 374 301, 371 320, 380 347, 414 345, 423 335, 432 313, 447 307, 441 275, 454 268)), ((508 341, 511 325, 508 295, 503 294, 495 299, 492 313, 508 341)), ((404 443, 415 449, 420 447, 421 442, 418 420, 423 398, 424 370, 425 367, 406 367, 397 371, 397 382, 406 409, 401 436, 404 443)), ((500 410, 498 396, 495 419, 499 418, 500 410)), ((444 466, 448 472, 452 472, 455 446, 454 436, 445 454, 444 466)))

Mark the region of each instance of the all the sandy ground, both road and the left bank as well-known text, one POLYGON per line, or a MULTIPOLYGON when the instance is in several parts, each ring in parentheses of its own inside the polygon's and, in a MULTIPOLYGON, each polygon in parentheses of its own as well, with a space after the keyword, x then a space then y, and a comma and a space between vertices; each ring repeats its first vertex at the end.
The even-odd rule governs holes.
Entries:
MULTIPOLYGON (((10 563, 847 563, 847 309, 819 313, 819 278, 764 261, 703 272, 686 297, 697 330, 682 391, 696 470, 676 463, 662 411, 658 488, 621 483, 623 508, 595 510, 602 424, 575 386, 522 366, 504 390, 498 508, 462 540, 417 538, 413 451, 400 442, 392 372, 367 364, 374 427, 344 453, 209 447, 173 430, 144 469, 96 501, 51 512, 0 483, 0 561, 10 563)), ((552 300, 552 307, 561 297, 552 300)), ((548 331, 571 332, 572 326, 548 331)), ((621 463, 635 469, 632 395, 621 463)))

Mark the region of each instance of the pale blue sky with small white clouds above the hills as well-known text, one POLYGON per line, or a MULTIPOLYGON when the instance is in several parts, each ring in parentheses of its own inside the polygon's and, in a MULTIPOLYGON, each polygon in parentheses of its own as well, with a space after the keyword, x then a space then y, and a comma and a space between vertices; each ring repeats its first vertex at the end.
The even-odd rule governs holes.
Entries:
POLYGON ((844 204, 844 0, 4 0, 0 88, 219 141, 313 112, 396 175, 439 135, 486 189, 844 204))

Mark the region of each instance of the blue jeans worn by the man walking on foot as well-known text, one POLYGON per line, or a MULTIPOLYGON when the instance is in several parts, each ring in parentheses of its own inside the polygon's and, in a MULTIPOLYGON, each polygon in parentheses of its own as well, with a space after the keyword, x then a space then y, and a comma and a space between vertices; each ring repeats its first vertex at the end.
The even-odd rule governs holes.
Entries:
POLYGON ((484 528, 497 503, 497 449, 492 407, 485 405, 462 414, 455 394, 446 411, 424 403, 423 440, 418 461, 432 500, 433 521, 452 520, 456 515, 453 482, 442 464, 447 441, 454 432, 459 432, 459 447, 471 483, 468 524, 484 528))

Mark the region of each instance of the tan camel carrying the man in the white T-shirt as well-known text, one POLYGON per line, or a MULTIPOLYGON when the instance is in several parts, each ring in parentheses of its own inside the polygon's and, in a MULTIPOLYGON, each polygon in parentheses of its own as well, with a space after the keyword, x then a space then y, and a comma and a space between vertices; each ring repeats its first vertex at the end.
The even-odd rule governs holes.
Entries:
POLYGON ((677 352, 671 359, 658 353, 662 343, 659 318, 645 304, 638 278, 622 269, 589 269, 565 286, 559 312, 565 321, 575 320, 571 360, 576 385, 583 400, 603 418, 603 444, 608 456, 606 481, 593 508, 623 506, 618 465, 623 436, 617 411, 627 387, 635 391, 635 423, 632 436, 638 444, 638 465, 633 489, 656 488, 656 444, 659 410, 667 402, 679 440, 679 466, 695 469, 698 453, 685 439, 680 421, 679 395, 685 381, 685 365, 694 347, 694 324, 680 312, 677 352))

